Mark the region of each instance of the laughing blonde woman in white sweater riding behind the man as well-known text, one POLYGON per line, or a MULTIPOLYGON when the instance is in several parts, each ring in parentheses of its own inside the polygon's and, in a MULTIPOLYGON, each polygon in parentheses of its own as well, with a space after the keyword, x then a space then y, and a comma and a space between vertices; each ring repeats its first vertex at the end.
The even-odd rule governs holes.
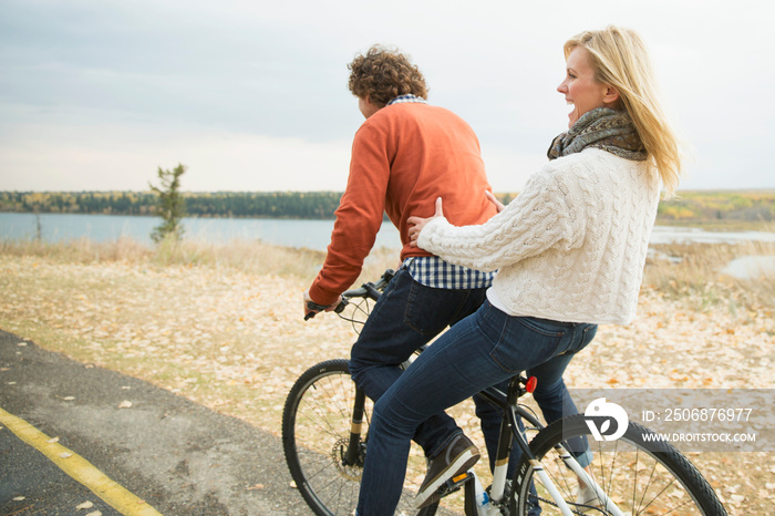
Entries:
MULTIPOLYGON (((634 32, 583 32, 565 44, 565 55, 557 90, 572 106, 569 130, 551 143, 550 162, 521 194, 479 226, 452 226, 442 199, 435 215, 409 219, 414 245, 498 274, 482 308, 431 345, 376 403, 359 515, 393 514, 410 440, 427 416, 523 370, 540 373, 544 395, 561 396, 562 372, 597 324, 634 318, 660 192, 678 184, 678 142, 634 32)), ((568 412, 545 413, 561 415, 568 412)))

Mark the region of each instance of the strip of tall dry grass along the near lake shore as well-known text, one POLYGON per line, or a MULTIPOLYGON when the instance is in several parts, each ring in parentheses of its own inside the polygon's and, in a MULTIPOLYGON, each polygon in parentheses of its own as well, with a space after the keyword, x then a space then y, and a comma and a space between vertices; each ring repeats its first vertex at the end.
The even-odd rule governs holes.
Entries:
MULTIPOLYGON (((765 229, 773 227, 767 226, 765 229)), ((775 244, 662 244, 652 248, 657 255, 647 260, 643 276, 643 285, 650 288, 675 298, 699 295, 702 302, 698 308, 719 302, 728 305, 732 310, 741 306, 775 308, 775 277, 745 280, 722 272, 735 258, 775 257, 775 244)), ((232 240, 227 245, 218 245, 194 239, 165 241, 151 248, 130 238, 108 242, 82 238, 55 244, 0 240, 0 254, 40 257, 62 264, 125 262, 149 264, 155 267, 206 267, 304 279, 313 278, 326 258, 322 251, 272 246, 260 240, 232 240)), ((379 278, 385 268, 397 267, 396 255, 391 249, 374 250, 364 264, 358 285, 379 278)))

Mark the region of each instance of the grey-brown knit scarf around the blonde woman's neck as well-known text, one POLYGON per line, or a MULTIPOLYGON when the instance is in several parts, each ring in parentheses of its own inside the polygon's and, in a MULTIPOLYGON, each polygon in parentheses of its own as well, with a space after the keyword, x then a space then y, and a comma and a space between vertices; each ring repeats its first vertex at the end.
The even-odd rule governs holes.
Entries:
POLYGON ((547 156, 556 159, 587 147, 601 148, 636 162, 648 157, 630 115, 608 107, 597 107, 581 115, 567 133, 551 142, 547 156))

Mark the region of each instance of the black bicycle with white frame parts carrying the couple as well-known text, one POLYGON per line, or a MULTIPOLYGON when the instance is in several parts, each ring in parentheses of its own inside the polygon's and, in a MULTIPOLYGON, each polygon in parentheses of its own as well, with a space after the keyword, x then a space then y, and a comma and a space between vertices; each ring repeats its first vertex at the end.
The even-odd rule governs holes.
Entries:
MULTIPOLYGON (((352 303, 366 317, 369 300, 376 301, 393 277, 388 270, 379 281, 342 295, 337 308, 352 303)), ((541 514, 629 515, 672 514, 722 516, 726 512, 700 472, 671 444, 649 438, 653 433, 630 422, 617 441, 593 441, 583 414, 562 417, 544 426, 518 399, 535 389, 535 379, 516 375, 507 392, 480 393, 503 411, 493 483, 484 489, 467 472, 442 486, 442 502, 462 491, 463 512, 469 516, 526 515, 539 503, 541 514), (518 430, 537 432, 529 444, 518 430), (574 456, 585 438, 593 461, 585 469, 574 456), (513 443, 523 452, 513 478, 507 478, 513 443), (578 499, 579 479, 591 496, 578 499), (531 486, 535 486, 531 493, 531 486)), ((291 477, 316 515, 351 515, 358 503, 360 477, 369 441, 371 402, 350 379, 347 360, 329 360, 307 370, 291 388, 282 414, 282 445, 291 477)), ((411 514, 411 492, 401 498, 396 514, 411 514)), ((416 510, 432 516, 445 508, 436 502, 416 510)))

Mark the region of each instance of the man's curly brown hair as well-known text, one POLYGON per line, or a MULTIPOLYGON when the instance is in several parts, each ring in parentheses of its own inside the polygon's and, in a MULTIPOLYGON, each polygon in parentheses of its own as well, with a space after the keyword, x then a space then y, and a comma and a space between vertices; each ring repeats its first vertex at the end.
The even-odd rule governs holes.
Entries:
POLYGON ((380 107, 400 95, 413 94, 427 99, 425 78, 409 58, 382 45, 374 45, 365 54, 359 54, 348 64, 348 87, 353 95, 365 99, 380 107))

